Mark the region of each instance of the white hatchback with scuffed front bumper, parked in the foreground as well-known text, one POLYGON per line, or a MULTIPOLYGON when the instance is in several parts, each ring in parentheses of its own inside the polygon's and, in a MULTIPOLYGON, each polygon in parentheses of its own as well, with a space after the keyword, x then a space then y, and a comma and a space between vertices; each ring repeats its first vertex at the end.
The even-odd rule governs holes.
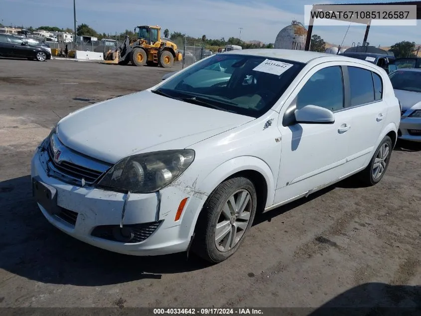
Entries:
POLYGON ((47 220, 130 255, 236 252, 256 212, 353 174, 378 183, 400 105, 386 72, 279 49, 209 56, 61 119, 32 159, 47 220))

